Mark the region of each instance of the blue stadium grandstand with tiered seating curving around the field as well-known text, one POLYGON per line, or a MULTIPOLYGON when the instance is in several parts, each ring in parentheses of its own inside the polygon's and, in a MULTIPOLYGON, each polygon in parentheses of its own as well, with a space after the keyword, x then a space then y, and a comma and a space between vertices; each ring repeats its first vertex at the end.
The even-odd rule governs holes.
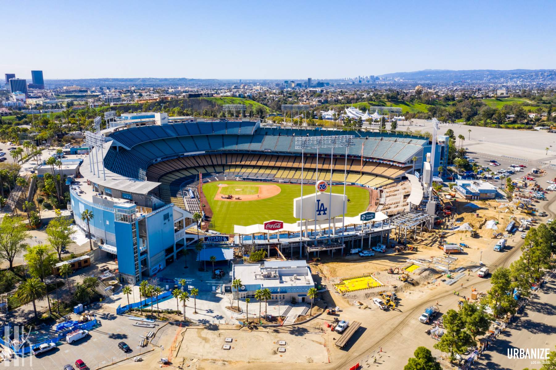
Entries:
MULTIPOLYGON (((297 183, 301 150, 295 147, 295 138, 335 134, 354 136, 354 145, 347 151, 348 182, 360 186, 395 182, 413 172, 414 166, 419 172, 431 150, 428 138, 411 133, 268 126, 250 119, 168 118, 165 113, 122 114, 110 128, 89 136, 96 146, 91 143, 95 149, 80 168, 85 180, 72 184, 70 191, 76 223, 86 230, 80 214, 84 209, 92 211, 96 243, 116 256, 122 276, 136 283, 195 244, 197 236, 187 228, 192 226, 198 202, 186 202, 183 187, 197 181, 198 173, 203 178, 297 183)), ((448 140, 440 137, 436 149, 438 172, 438 166, 445 167, 448 140)), ((304 166, 310 172, 316 149, 305 153, 304 166)), ((330 157, 330 149, 319 151, 319 171, 334 166, 341 169, 343 181, 346 153, 330 157)))

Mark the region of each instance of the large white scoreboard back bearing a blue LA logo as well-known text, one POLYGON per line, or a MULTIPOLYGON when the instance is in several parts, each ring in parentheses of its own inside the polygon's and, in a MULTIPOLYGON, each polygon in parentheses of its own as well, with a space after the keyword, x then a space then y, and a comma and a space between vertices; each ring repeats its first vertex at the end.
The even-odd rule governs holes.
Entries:
POLYGON ((346 211, 346 198, 342 194, 317 193, 294 199, 294 217, 302 219, 329 219, 346 211), (303 207, 301 207, 303 204, 303 207), (303 208, 301 210, 301 208, 303 208), (303 214, 301 214, 301 211, 303 214), (316 216, 316 218, 315 218, 316 216))

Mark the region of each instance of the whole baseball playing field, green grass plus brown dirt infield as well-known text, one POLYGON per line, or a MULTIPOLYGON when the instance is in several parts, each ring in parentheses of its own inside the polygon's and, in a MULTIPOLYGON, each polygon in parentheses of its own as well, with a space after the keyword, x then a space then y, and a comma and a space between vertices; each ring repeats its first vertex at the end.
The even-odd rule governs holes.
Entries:
MULTIPOLYGON (((303 186, 304 196, 314 192, 314 185, 303 186)), ((343 192, 343 186, 332 187, 332 193, 343 192)), ((215 181, 203 184, 203 193, 212 209, 211 228, 233 233, 234 225, 248 226, 271 219, 295 222, 293 200, 301 196, 301 185, 215 181)), ((355 216, 369 206, 370 193, 365 188, 347 186, 346 196, 350 200, 346 216, 355 216)))

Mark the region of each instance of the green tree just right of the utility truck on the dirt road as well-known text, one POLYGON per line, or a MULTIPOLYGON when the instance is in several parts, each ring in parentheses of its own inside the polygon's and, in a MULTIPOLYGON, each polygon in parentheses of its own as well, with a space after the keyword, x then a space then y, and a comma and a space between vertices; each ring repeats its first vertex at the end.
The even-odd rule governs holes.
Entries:
POLYGON ((449 309, 444 318, 444 335, 434 348, 450 354, 450 362, 454 361, 454 353, 464 353, 473 344, 471 335, 463 330, 464 322, 457 311, 449 309))

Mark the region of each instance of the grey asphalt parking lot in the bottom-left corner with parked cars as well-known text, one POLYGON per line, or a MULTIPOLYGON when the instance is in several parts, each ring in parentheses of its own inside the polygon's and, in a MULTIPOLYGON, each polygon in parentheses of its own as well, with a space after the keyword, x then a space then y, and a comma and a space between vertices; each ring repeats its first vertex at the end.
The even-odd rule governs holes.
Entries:
POLYGON ((64 365, 74 366, 77 359, 82 359, 89 368, 96 369, 126 357, 139 356, 152 348, 151 344, 141 348, 138 343, 140 336, 145 336, 148 331, 156 331, 158 326, 153 329, 136 327, 133 326, 135 321, 126 316, 117 316, 102 310, 96 316, 101 326, 92 329, 90 336, 72 344, 67 344, 65 340, 58 342, 58 347, 53 351, 39 354, 32 359, 27 357, 26 361, 31 361, 31 364, 26 362, 24 367, 33 370, 63 369, 64 365), (118 348, 118 343, 122 341, 130 346, 131 352, 125 354, 118 348))

